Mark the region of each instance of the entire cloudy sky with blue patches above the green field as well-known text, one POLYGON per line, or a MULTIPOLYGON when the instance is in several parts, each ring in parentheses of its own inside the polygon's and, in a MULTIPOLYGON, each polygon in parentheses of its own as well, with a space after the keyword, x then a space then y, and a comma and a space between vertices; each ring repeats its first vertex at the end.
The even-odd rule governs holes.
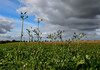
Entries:
POLYGON ((23 40, 28 40, 26 29, 37 28, 38 17, 43 19, 43 40, 57 30, 65 31, 64 40, 74 32, 84 32, 87 38, 83 40, 100 40, 99 0, 0 0, 0 40, 20 40, 21 11, 29 16, 24 21, 23 40))

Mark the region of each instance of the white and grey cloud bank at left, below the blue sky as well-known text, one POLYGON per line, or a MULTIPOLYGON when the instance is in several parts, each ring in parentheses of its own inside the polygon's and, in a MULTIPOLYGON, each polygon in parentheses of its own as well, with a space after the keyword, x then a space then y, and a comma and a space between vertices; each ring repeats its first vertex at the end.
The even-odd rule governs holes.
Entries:
MULTIPOLYGON (((7 18, 4 16, 0 16, 0 40, 20 40, 20 33, 21 33, 21 20, 7 18)), ((24 38, 23 40, 28 40, 28 34, 26 28, 30 29, 37 27, 37 25, 24 22, 23 31, 24 31, 24 38)))

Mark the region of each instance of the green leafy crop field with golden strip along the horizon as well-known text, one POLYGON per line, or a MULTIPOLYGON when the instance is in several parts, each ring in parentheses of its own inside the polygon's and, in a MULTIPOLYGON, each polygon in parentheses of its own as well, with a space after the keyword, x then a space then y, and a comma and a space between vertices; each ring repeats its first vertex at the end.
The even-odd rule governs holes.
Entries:
POLYGON ((100 70, 100 41, 0 44, 0 70, 100 70))

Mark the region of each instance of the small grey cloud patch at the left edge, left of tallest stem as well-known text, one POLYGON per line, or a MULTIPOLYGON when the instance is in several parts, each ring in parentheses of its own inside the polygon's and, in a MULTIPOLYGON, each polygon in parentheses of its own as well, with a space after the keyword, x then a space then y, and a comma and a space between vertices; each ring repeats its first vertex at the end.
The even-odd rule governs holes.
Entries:
POLYGON ((10 31, 14 24, 12 19, 0 16, 0 34, 10 31))

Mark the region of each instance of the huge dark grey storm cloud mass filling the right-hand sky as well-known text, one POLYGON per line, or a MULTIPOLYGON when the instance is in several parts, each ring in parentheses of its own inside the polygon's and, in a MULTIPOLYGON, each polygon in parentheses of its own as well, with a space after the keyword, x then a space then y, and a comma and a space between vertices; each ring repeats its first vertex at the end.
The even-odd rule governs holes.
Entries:
MULTIPOLYGON (((59 27, 66 30, 67 36, 71 36, 73 32, 85 32, 91 38, 96 34, 95 30, 100 28, 100 17, 97 17, 100 16, 100 0, 20 1, 25 7, 19 8, 19 11, 27 10, 29 15, 43 18, 45 24, 59 25, 52 28, 52 31, 59 27)), ((46 26, 44 31, 49 27, 51 28, 51 26, 46 26)))

